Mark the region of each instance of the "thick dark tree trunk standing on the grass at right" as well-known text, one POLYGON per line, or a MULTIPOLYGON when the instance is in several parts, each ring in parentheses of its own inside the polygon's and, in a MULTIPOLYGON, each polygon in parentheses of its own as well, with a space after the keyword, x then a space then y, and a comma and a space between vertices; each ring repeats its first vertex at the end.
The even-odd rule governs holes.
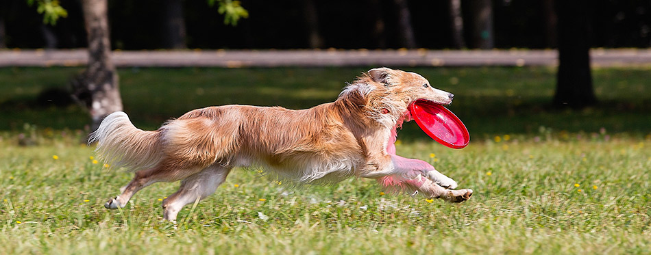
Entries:
POLYGON ((558 73, 554 105, 586 107, 597 103, 590 73, 587 0, 556 1, 558 73))

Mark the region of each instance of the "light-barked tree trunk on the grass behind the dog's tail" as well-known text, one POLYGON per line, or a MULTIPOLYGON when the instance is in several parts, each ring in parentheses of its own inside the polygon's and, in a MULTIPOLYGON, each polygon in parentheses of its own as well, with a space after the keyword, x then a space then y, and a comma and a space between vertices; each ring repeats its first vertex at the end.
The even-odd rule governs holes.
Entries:
POLYGON ((83 0, 88 34, 88 68, 73 80, 73 96, 90 111, 91 131, 114 111, 122 111, 118 75, 111 61, 107 0, 83 0))

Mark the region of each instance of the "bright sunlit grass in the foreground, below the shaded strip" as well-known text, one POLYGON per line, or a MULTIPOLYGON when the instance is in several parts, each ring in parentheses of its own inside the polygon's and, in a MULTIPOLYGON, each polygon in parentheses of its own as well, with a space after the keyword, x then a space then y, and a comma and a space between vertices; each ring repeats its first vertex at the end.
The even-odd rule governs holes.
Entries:
POLYGON ((651 249, 651 139, 606 135, 550 135, 539 142, 519 135, 504 141, 502 136, 500 142, 474 142, 463 150, 433 142, 398 146, 400 154, 426 159, 460 187, 474 189, 473 198, 463 204, 382 196, 373 181, 354 178, 327 187, 286 189, 256 172, 236 170, 195 209, 186 206, 177 230, 162 221, 159 201, 177 184, 152 185, 123 211, 108 211, 103 202, 131 174, 93 164, 91 148, 74 145, 78 137, 55 133, 43 137, 42 146, 20 147, 14 137, 5 136, 0 250, 646 253, 651 249))

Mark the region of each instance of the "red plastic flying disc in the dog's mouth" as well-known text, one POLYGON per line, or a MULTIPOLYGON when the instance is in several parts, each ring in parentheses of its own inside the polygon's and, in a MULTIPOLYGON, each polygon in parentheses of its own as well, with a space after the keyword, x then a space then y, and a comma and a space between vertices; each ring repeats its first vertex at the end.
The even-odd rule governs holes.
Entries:
POLYGON ((409 111, 416 124, 439 144, 460 149, 470 142, 466 126, 443 105, 419 99, 409 105, 409 111))

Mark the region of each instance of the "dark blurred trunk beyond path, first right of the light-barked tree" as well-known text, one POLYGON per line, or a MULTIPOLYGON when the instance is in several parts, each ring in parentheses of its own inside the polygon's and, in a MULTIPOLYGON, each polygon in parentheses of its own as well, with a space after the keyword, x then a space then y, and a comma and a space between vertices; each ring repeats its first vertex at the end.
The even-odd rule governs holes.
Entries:
POLYGON ((165 49, 186 49, 185 19, 183 16, 182 0, 163 0, 163 38, 165 49))

